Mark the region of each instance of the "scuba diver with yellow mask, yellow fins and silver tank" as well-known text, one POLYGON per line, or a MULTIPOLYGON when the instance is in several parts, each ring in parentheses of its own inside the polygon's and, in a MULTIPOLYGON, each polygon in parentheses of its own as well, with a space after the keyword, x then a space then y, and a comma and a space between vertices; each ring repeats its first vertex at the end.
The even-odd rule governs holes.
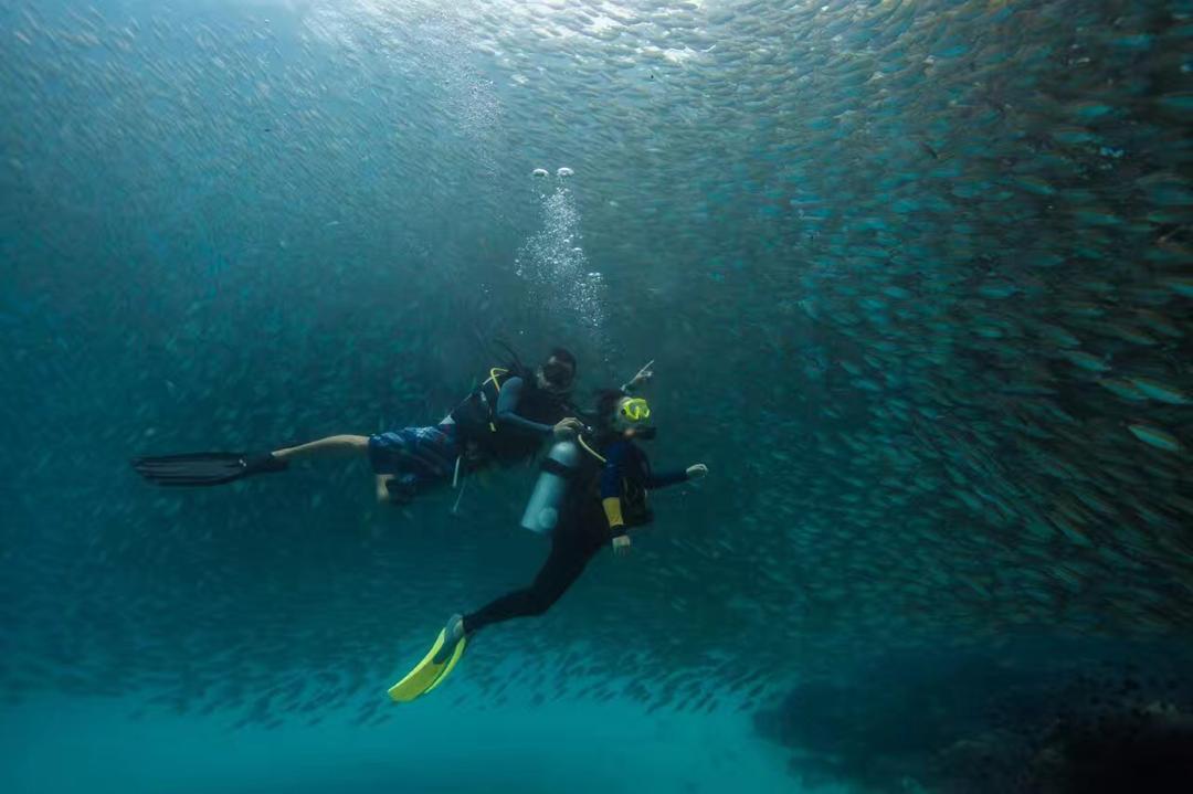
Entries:
POLYGON ((545 613, 604 546, 611 545, 617 556, 629 553, 629 529, 653 519, 648 490, 707 473, 704 464, 673 472, 651 471, 645 453, 635 443, 636 439, 654 438, 654 427, 648 423, 650 407, 625 389, 602 391, 595 432, 585 428, 575 440, 556 442, 542 464, 523 516, 523 527, 551 533, 551 551, 534 581, 476 612, 452 615, 426 657, 389 689, 392 700, 407 702, 438 687, 456 666, 468 639, 481 628, 545 613))

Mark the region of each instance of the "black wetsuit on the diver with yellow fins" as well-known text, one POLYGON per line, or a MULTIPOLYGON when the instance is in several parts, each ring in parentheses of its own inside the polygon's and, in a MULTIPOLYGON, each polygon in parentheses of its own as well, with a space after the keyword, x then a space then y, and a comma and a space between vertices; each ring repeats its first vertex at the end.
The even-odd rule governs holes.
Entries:
POLYGON ((551 534, 551 552, 534 582, 528 588, 507 593, 472 614, 464 615, 465 633, 512 618, 542 615, 580 578, 588 560, 601 547, 610 544, 613 536, 625 534, 625 526, 639 526, 650 521, 645 508, 647 489, 687 479, 684 470, 666 474, 651 473, 645 454, 628 440, 618 439, 612 442, 605 448, 604 455, 606 461, 599 470, 599 480, 588 477, 573 486, 565 497, 563 509, 560 510, 560 523, 551 534), (601 502, 617 498, 624 503, 631 495, 635 501, 641 498, 641 504, 625 505, 626 523, 611 527, 601 502))

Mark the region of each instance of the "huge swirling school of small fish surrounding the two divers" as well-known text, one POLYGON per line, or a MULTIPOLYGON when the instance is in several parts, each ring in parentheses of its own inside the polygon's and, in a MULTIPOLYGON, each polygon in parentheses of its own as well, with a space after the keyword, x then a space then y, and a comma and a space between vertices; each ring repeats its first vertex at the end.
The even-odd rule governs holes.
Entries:
POLYGON ((654 359, 651 460, 711 473, 435 696, 755 708, 859 655, 1188 638, 1188 2, 0 23, 0 696, 391 719, 533 576, 533 470, 453 516, 126 461, 431 423, 501 336, 585 389, 654 359))

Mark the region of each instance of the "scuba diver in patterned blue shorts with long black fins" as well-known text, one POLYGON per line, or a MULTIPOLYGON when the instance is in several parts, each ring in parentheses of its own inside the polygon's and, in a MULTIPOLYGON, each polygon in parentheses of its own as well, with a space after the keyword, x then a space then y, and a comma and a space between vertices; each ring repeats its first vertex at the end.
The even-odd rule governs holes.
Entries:
MULTIPOLYGON (((439 424, 406 427, 375 435, 333 435, 272 452, 199 452, 137 458, 132 467, 165 486, 204 486, 253 474, 284 471, 296 460, 366 455, 377 476, 377 498, 407 503, 429 488, 489 463, 526 460, 543 440, 571 439, 583 427, 570 402, 576 359, 562 347, 537 368, 512 361, 489 377, 439 424), (462 471, 463 470, 463 471, 462 471)), ((650 377, 647 367, 632 385, 650 377)))

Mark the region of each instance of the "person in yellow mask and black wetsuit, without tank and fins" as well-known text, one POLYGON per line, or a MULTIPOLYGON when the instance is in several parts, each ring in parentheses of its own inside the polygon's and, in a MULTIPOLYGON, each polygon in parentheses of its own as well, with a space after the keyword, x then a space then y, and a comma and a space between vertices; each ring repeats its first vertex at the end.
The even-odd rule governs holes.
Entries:
POLYGON ((567 496, 551 535, 551 552, 538 576, 528 588, 508 593, 471 614, 453 615, 444 632, 441 656, 450 655, 460 638, 484 626, 546 612, 604 546, 612 545, 616 554, 629 552, 628 529, 651 520, 648 490, 707 473, 704 464, 654 473, 645 453, 635 443, 635 436, 649 438, 643 432, 649 416, 650 409, 641 397, 624 391, 600 396, 596 446, 585 453, 592 459, 588 474, 567 496))

